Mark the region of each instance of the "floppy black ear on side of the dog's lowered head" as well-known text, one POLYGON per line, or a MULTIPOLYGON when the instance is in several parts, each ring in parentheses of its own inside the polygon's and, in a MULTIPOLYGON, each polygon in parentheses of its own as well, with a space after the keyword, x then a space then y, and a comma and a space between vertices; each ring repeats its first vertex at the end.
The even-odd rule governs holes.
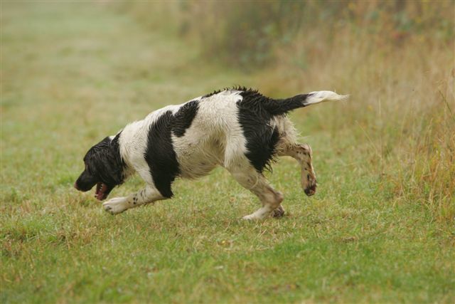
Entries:
POLYGON ((97 176, 100 182, 110 187, 122 184, 124 163, 120 156, 119 135, 104 140, 87 152, 87 167, 90 173, 97 176))

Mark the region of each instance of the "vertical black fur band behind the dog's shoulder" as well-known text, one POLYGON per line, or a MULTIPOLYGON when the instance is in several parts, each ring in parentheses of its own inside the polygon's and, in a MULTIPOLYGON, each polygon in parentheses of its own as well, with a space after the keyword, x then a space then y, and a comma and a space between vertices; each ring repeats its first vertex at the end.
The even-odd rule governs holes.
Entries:
POLYGON ((168 198, 173 196, 171 184, 180 174, 171 139, 174 121, 172 112, 167 111, 150 126, 144 155, 156 189, 168 198))

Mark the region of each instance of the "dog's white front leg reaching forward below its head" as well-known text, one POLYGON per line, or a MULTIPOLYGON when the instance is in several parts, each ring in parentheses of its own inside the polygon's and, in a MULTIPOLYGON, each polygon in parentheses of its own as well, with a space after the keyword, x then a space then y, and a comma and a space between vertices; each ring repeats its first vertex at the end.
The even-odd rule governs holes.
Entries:
POLYGON ((105 211, 110 214, 119 214, 127 209, 141 206, 143 204, 149 204, 159 199, 164 199, 158 190, 153 187, 145 187, 139 192, 134 194, 129 194, 129 196, 124 197, 114 197, 105 201, 102 206, 105 211))

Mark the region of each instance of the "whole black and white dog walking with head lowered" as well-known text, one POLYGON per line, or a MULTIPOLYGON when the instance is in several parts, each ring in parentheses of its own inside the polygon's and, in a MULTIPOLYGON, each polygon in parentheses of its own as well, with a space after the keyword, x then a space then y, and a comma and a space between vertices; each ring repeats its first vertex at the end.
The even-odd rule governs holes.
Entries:
POLYGON ((262 208, 243 219, 282 216, 283 195, 262 174, 274 157, 294 157, 301 167, 304 192, 309 196, 316 192, 311 147, 296 142, 296 131, 287 112, 346 98, 347 95, 318 91, 273 99, 257 90, 233 88, 182 105, 168 105, 88 150, 85 170, 75 188, 86 192, 96 184, 95 197, 103 200, 115 186, 137 172, 146 182, 144 189, 102 204, 106 211, 118 214, 171 198, 176 177, 202 177, 220 165, 262 202, 262 208))

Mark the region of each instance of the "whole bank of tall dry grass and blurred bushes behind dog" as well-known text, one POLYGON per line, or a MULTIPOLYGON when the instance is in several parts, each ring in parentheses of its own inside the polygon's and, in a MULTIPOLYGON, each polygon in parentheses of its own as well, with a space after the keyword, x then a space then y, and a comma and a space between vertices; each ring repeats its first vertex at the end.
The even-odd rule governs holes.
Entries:
POLYGON ((266 93, 350 93, 350 103, 324 112, 319 127, 366 142, 368 170, 397 202, 455 220, 454 1, 138 2, 121 9, 145 26, 166 24, 200 47, 201 60, 252 73, 266 93), (147 19, 151 9, 175 22, 147 19))

